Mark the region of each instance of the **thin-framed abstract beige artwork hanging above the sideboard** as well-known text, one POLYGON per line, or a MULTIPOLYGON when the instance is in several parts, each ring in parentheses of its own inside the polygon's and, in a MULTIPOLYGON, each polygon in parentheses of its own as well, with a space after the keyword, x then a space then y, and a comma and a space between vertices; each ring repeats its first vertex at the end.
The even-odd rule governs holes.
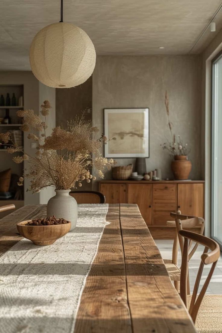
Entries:
POLYGON ((104 145, 108 158, 149 157, 149 109, 104 109, 104 145))

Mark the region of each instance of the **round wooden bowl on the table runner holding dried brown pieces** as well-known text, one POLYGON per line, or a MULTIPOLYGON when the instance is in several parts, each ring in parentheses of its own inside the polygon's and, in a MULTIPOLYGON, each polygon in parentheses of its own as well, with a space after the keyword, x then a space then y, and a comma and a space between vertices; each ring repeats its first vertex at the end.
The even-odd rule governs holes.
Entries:
POLYGON ((20 235, 30 239, 36 245, 51 245, 71 228, 71 222, 55 225, 25 225, 29 221, 17 223, 17 229, 20 235))

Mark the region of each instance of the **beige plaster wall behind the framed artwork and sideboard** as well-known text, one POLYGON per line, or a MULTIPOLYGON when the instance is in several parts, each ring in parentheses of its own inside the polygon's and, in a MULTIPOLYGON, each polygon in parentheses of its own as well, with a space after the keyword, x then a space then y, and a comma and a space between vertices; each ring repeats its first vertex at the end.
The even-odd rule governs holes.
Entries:
MULTIPOLYGON (((160 147, 170 139, 164 106, 167 90, 173 130, 191 147, 190 178, 200 179, 201 66, 200 56, 98 56, 93 73, 93 125, 103 132, 104 108, 148 107, 147 171, 162 168, 163 178, 172 178, 171 158, 160 147)), ((126 165, 134 159, 117 162, 126 165)), ((111 178, 111 172, 106 178, 111 178)))

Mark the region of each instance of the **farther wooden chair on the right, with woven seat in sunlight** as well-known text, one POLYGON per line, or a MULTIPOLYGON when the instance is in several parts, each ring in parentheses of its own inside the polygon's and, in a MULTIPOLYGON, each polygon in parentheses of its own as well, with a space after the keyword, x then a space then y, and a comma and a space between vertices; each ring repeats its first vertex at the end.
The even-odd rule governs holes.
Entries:
MULTIPOLYGON (((175 237, 173 242, 173 250, 172 250, 172 259, 163 259, 163 262, 166 266, 167 272, 170 276, 171 281, 174 281, 174 286, 177 291, 179 291, 179 281, 180 281, 180 268, 177 266, 177 258, 178 258, 178 248, 180 245, 181 255, 183 252, 183 238, 178 235, 179 230, 182 229, 200 229, 200 234, 202 235, 204 232, 205 221, 201 217, 182 215, 180 211, 177 213, 170 213, 170 216, 175 219, 175 221, 167 221, 168 226, 174 226, 175 229, 175 237)), ((191 258, 194 252, 197 249, 198 244, 195 244, 190 251, 189 258, 191 258)), ((189 245, 189 249, 191 248, 191 242, 189 245)), ((190 293, 189 289, 189 274, 188 274, 188 283, 187 283, 187 292, 190 293)))

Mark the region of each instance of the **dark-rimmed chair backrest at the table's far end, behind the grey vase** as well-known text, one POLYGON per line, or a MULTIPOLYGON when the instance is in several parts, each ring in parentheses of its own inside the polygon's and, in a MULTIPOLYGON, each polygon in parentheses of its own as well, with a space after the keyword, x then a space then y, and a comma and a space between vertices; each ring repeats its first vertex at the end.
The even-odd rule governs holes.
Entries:
POLYGON ((97 191, 72 191, 69 193, 77 203, 105 203, 105 196, 97 191))

